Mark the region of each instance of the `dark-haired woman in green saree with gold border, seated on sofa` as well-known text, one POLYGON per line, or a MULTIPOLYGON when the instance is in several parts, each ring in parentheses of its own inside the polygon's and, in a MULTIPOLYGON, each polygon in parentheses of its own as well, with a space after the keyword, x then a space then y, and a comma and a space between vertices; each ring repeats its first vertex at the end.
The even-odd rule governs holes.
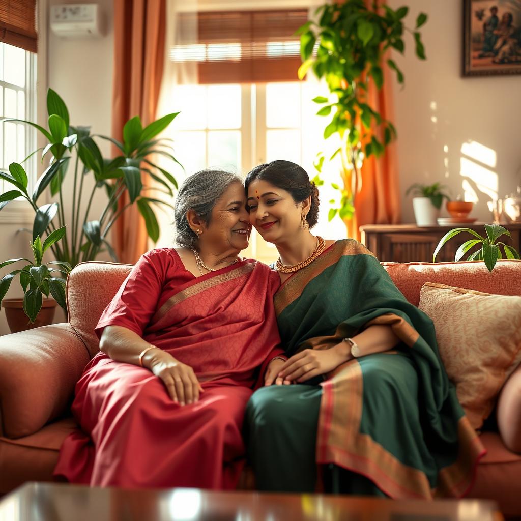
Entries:
POLYGON ((246 410, 257 488, 464 495, 485 449, 432 321, 365 246, 311 234, 318 190, 300 166, 260 165, 245 185, 250 221, 280 255, 275 309, 290 357, 246 410))

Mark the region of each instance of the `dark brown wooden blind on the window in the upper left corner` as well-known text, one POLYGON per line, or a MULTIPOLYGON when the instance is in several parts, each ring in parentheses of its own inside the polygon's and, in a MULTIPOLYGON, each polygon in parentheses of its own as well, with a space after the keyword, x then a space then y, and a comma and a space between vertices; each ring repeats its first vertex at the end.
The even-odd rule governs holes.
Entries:
POLYGON ((0 42, 36 52, 36 0, 0 0, 0 42))

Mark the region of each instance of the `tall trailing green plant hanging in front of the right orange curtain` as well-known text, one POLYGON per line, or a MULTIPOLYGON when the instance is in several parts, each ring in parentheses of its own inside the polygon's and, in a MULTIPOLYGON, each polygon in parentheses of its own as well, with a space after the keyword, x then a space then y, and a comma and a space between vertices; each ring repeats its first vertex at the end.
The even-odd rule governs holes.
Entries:
MULTIPOLYGON (((317 78, 326 80, 330 96, 318 96, 313 101, 323 105, 317 114, 330 119, 324 138, 338 135, 341 141, 330 160, 340 154, 344 186, 333 184, 340 190, 341 200, 339 207, 331 208, 330 220, 337 213, 344 220, 352 218, 363 160, 383 154, 385 146, 396 137, 392 123, 371 106, 367 95, 371 82, 381 89, 384 61, 395 71, 398 81, 404 82, 398 65, 387 58, 388 49, 403 54, 403 35, 410 32, 416 55, 425 59, 418 29, 427 21, 427 15, 420 13, 411 30, 403 23, 408 7, 394 10, 386 5, 378 8, 377 4, 374 1, 367 6, 365 0, 345 0, 322 5, 316 11, 319 21, 308 21, 297 31, 303 61, 299 78, 303 79, 311 69, 317 78)), ((315 164, 319 176, 324 159, 324 154, 319 153, 315 164)), ((317 181, 322 184, 319 176, 317 181)))

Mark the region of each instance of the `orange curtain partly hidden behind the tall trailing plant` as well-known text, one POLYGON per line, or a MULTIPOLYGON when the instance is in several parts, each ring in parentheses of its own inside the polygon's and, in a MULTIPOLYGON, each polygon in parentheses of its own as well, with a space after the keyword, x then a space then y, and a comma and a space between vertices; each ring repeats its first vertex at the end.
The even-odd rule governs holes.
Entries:
MULTIPOLYGON (((368 0, 366 3, 369 3, 368 0)), ((379 5, 384 3, 379 2, 379 5)), ((394 79, 386 60, 387 56, 382 64, 383 86, 378 90, 373 81, 369 83, 367 103, 383 119, 394 122, 392 88, 394 79)), ((397 132, 400 135, 400 129, 397 132)), ((396 224, 401 221, 398 155, 394 142, 386 146, 386 151, 381 157, 371 156, 364 161, 361 178, 361 187, 355 198, 355 215, 348 225, 349 237, 358 241, 361 238, 359 228, 363 225, 396 224)))

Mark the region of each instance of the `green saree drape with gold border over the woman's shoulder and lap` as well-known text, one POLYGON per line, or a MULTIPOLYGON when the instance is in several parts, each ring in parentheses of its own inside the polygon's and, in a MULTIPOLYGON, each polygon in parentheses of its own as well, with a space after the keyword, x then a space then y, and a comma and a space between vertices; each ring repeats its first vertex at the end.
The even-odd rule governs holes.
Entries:
POLYGON ((485 454, 443 368, 432 321, 354 240, 334 243, 275 296, 288 355, 328 349, 374 324, 393 351, 349 361, 320 383, 316 463, 365 476, 392 498, 461 497, 485 454))

